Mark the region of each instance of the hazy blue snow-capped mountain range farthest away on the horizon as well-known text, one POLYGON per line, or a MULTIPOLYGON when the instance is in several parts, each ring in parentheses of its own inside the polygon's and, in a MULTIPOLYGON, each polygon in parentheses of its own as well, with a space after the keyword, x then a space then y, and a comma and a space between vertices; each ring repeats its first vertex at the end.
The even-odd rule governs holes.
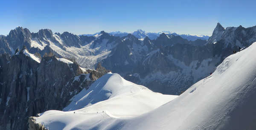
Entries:
MULTIPOLYGON (((148 37, 150 40, 155 40, 162 33, 165 33, 165 34, 168 34, 168 35, 172 34, 174 36, 180 36, 180 37, 182 37, 186 40, 189 40, 189 41, 195 41, 195 40, 198 40, 198 39, 200 39, 200 40, 208 40, 209 39, 209 36, 207 36, 207 35, 176 34, 175 32, 172 32, 172 31, 161 31, 161 32, 158 32, 158 33, 152 33, 152 32, 143 31, 141 29, 138 29, 137 31, 134 31, 131 34, 133 34, 135 37, 137 37, 139 39, 148 37)), ((96 34, 100 34, 100 32, 95 33, 95 34, 82 34, 82 35, 84 35, 84 36, 95 36, 96 34)), ((113 31, 113 32, 110 32, 109 34, 111 34, 113 36, 116 36, 116 37, 125 37, 129 33, 121 32, 121 31, 113 31)))

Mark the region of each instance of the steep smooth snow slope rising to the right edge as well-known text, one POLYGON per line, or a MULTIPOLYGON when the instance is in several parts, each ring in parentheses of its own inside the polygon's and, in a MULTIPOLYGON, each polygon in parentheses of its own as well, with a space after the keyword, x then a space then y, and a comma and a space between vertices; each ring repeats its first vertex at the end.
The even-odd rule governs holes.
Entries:
POLYGON ((122 130, 255 129, 256 42, 227 57, 216 71, 172 102, 113 123, 122 130), (122 124, 122 125, 119 125, 122 124))

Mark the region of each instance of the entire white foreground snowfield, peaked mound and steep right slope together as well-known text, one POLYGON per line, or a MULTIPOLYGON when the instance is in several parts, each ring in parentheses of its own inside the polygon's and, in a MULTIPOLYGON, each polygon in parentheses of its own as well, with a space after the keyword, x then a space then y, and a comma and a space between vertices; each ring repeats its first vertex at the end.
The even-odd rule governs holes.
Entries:
POLYGON ((49 110, 36 121, 50 130, 253 130, 255 54, 256 42, 177 98, 108 73, 74 96, 65 112, 49 110))

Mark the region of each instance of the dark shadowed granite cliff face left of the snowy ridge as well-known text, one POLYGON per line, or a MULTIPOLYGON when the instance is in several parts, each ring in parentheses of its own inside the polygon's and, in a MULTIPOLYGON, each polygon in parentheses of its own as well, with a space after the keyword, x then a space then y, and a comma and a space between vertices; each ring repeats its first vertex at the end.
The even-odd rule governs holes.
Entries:
POLYGON ((28 117, 62 110, 76 93, 105 74, 85 70, 67 59, 43 57, 26 48, 13 56, 0 54, 0 130, 26 130, 28 117))

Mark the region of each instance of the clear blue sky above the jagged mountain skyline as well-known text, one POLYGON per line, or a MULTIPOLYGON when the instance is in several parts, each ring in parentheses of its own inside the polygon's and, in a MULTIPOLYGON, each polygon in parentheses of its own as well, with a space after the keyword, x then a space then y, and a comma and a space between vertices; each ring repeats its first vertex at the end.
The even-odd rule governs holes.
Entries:
POLYGON ((256 25, 256 0, 2 0, 0 34, 17 26, 38 32, 175 31, 211 35, 224 27, 256 25))

